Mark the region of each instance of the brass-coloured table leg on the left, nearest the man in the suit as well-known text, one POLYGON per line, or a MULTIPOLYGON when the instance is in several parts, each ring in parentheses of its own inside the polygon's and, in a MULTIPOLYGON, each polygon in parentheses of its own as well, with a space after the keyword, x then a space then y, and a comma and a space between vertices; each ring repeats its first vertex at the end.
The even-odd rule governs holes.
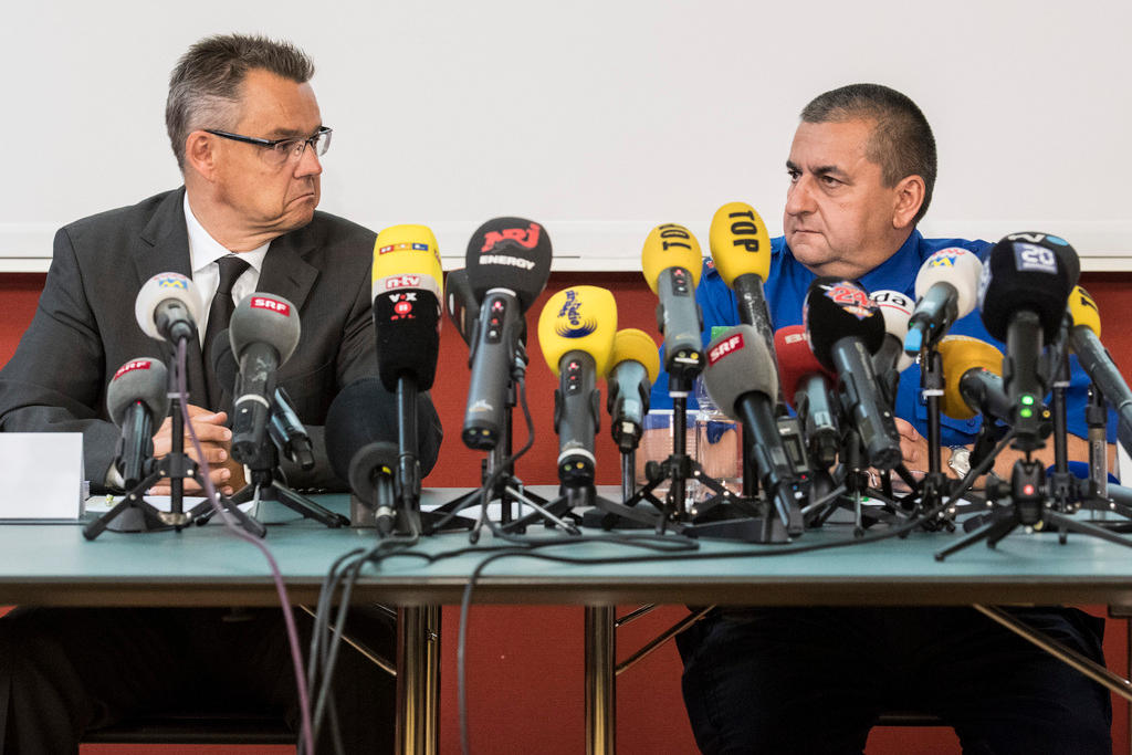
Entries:
POLYGON ((440 607, 397 609, 400 755, 436 755, 440 719, 440 607))

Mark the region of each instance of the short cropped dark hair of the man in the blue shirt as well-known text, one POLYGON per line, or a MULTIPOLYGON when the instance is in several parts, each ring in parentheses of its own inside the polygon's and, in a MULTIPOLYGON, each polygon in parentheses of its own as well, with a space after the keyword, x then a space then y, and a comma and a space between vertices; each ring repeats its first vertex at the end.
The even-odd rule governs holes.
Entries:
POLYGON ((881 166, 885 186, 895 186, 909 175, 924 179, 924 204, 916 213, 919 223, 935 189, 936 152, 932 127, 907 95, 880 84, 850 84, 820 94, 801 111, 806 123, 848 120, 873 121, 866 156, 881 166))

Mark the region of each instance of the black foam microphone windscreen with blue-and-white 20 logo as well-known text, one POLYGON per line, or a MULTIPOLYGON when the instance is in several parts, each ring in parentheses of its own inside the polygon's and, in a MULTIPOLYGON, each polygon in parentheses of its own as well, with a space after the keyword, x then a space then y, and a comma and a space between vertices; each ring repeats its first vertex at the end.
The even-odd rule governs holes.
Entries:
POLYGON ((1012 315, 1030 310, 1053 341, 1065 315, 1069 292, 1080 274, 1077 251, 1055 235, 1011 233, 996 243, 983 265, 979 312, 987 333, 1006 340, 1012 315))

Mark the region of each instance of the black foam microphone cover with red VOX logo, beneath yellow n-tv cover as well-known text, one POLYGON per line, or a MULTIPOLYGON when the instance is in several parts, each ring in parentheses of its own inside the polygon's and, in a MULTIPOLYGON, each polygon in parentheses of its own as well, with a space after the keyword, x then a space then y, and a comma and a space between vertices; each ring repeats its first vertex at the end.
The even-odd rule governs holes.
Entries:
POLYGON ((440 300, 428 289, 394 289, 374 298, 377 374, 389 391, 408 377, 428 391, 440 352, 440 300))

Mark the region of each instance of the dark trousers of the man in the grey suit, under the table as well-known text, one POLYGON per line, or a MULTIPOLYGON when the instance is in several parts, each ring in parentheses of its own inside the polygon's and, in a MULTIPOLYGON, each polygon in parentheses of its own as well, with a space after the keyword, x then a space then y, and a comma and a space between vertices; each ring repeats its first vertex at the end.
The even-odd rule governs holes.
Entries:
MULTIPOLYGON (((306 672, 311 621, 295 620, 306 672)), ((387 652, 392 624, 366 624, 387 652)), ((281 714, 298 732, 293 669, 280 608, 19 608, 0 619, 0 752, 76 753, 88 729, 186 710, 281 714)), ((334 687, 345 752, 392 752, 393 677, 343 646, 334 687)))

